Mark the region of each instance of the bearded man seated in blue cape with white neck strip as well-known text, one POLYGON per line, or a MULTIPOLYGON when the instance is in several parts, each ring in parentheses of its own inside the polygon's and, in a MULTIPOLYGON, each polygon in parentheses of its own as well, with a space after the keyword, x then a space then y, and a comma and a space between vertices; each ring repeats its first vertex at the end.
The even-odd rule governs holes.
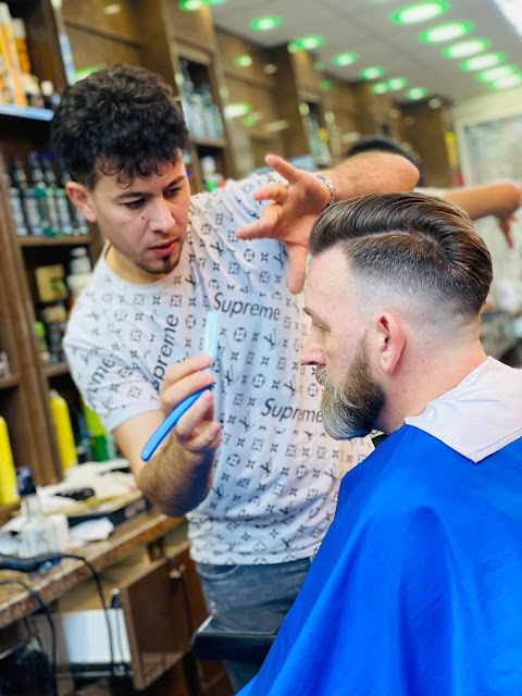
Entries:
POLYGON ((388 434, 241 696, 522 694, 522 372, 488 358, 490 257, 422 194, 315 222, 301 362, 337 440, 388 434))

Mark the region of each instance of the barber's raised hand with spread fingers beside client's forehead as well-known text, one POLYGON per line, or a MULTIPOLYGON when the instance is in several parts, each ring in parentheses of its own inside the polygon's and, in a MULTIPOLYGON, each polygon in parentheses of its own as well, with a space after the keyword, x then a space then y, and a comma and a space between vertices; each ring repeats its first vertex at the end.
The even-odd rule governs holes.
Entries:
POLYGON ((290 293, 299 293, 304 285, 310 231, 330 203, 331 194, 313 174, 296 169, 281 157, 268 154, 265 161, 288 184, 268 184, 253 194, 258 201, 272 202, 263 208, 259 220, 238 229, 237 236, 283 241, 288 253, 288 288, 290 293))

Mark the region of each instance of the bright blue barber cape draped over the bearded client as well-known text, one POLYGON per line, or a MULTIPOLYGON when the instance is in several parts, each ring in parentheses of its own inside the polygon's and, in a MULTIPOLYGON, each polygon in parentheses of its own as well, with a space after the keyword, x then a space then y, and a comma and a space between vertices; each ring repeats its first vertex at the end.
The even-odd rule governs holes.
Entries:
POLYGON ((515 437, 476 462, 403 425, 348 472, 301 592, 240 695, 522 696, 515 437))

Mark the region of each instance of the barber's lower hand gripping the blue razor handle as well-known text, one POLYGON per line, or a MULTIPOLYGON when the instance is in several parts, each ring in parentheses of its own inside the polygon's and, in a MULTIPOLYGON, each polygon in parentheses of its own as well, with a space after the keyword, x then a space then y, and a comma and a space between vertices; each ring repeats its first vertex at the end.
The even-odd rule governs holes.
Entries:
MULTIPOLYGON (((203 372, 210 364, 209 356, 196 356, 166 372, 160 394, 160 406, 165 417, 187 396, 213 384, 212 373, 203 372)), ((221 424, 213 418, 214 397, 207 389, 177 421, 171 438, 196 460, 213 457, 221 443, 221 424)))

